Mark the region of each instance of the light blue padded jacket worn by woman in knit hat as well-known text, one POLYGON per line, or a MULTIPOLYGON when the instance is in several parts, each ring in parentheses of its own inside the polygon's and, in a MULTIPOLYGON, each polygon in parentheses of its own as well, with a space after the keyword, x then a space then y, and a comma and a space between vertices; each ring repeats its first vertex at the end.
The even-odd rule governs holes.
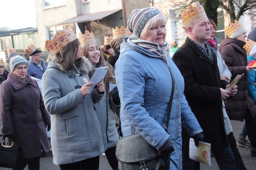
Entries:
POLYGON ((168 134, 164 130, 172 90, 172 79, 166 61, 125 38, 115 64, 116 83, 121 100, 121 129, 123 136, 140 133, 147 142, 160 149, 171 139, 170 169, 182 169, 181 124, 194 136, 202 129, 191 112, 183 94, 184 79, 168 56, 175 89, 168 134))

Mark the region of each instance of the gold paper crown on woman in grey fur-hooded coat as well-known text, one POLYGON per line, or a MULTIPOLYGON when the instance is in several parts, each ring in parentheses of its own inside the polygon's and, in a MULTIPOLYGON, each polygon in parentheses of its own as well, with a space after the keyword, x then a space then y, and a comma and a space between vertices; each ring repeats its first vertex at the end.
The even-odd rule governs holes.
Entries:
POLYGON ((66 31, 59 31, 52 40, 45 41, 45 48, 56 54, 62 47, 77 39, 73 29, 69 26, 66 31))

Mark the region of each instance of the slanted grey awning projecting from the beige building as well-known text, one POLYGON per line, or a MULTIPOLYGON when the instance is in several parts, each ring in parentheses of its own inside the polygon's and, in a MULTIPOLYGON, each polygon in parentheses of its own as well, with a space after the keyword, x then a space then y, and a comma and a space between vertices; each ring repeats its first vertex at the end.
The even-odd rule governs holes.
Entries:
POLYGON ((77 23, 79 23, 79 22, 88 22, 88 21, 103 19, 104 17, 109 16, 111 14, 114 14, 115 12, 120 11, 120 10, 122 10, 122 9, 84 14, 84 15, 73 17, 73 18, 70 18, 66 21, 60 22, 57 25, 64 25, 64 24, 69 24, 69 23, 74 23, 74 22, 77 22, 77 23))

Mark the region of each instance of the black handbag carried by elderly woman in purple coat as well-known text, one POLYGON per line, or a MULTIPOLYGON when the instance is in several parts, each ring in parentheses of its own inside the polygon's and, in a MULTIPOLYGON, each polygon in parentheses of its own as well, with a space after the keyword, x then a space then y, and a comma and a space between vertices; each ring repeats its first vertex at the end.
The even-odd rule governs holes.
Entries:
POLYGON ((0 145, 0 167, 15 168, 20 159, 20 146, 12 141, 11 145, 5 144, 5 137, 0 145))

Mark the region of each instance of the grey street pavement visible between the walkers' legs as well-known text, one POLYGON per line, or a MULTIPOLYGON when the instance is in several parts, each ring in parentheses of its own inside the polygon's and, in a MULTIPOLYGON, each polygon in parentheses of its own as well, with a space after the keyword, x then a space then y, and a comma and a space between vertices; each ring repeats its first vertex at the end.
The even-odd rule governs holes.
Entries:
MULTIPOLYGON (((238 139, 239 133, 243 128, 244 122, 231 120, 231 125, 233 128, 233 133, 236 139, 238 139)), ((247 170, 256 170, 256 157, 250 155, 250 149, 244 147, 238 147, 239 152, 243 158, 244 164, 247 170)), ((201 164, 201 170, 218 170, 218 166, 214 158, 212 158, 212 166, 201 164)), ((100 155, 100 170, 111 170, 111 167, 106 159, 105 155, 100 155)), ((1 168, 0 170, 10 170, 9 168, 1 168)), ((25 168, 28 170, 28 167, 25 168)), ((40 170, 60 170, 58 165, 53 164, 52 151, 48 152, 44 157, 40 159, 40 170)))

